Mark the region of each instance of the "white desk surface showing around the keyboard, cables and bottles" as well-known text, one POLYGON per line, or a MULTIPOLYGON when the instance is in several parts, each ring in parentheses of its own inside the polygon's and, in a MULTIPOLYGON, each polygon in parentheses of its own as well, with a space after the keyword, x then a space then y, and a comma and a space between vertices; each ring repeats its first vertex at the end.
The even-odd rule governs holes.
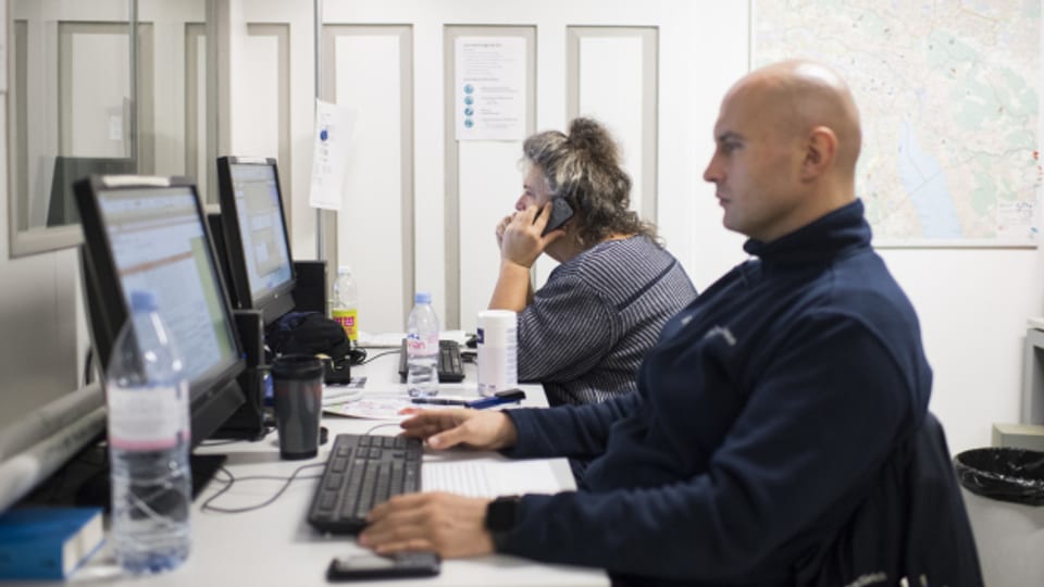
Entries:
MULTIPOLYGON (((371 355, 376 354, 372 352, 371 355)), ((366 376, 368 394, 403 394, 398 380, 398 359, 395 355, 376 358, 371 364, 352 367, 352 375, 366 376)), ((476 396, 474 365, 468 365, 462 384, 442 386, 443 394, 476 396)), ((526 390, 527 405, 546 405, 539 386, 522 386, 526 390)), ((386 422, 386 421, 385 421, 386 422)), ((364 433, 382 422, 341 417, 324 417, 323 425, 331 435, 338 433, 364 433)), ((396 426, 386 426, 374 434, 397 434, 396 426)), ((324 463, 330 442, 320 448, 315 459, 282 461, 275 434, 257 442, 236 441, 209 445, 198 452, 227 454, 225 467, 238 479, 236 485, 211 505, 244 508, 261 503, 283 486, 282 480, 243 480, 251 476, 288 477, 301 465, 324 463)), ((564 461, 555 461, 555 466, 567 484, 572 483, 564 461)), ((303 472, 319 475, 320 467, 303 472)), ((219 477, 222 474, 219 473, 219 477)), ((310 586, 330 585, 325 578, 331 559, 337 555, 366 552, 356 545, 350 536, 322 536, 306 522, 306 511, 314 494, 315 478, 295 480, 272 504, 246 513, 215 513, 201 511, 203 501, 222 486, 211 482, 194 503, 192 546, 188 560, 176 571, 146 579, 123 577, 108 547, 96 554, 90 563, 78 570, 70 583, 104 585, 147 586, 310 586)), ((571 488, 571 487, 564 487, 571 488)), ((391 583, 374 582, 370 585, 475 585, 498 587, 525 585, 588 586, 608 585, 607 575, 598 570, 562 565, 547 565, 509 555, 492 555, 469 560, 444 561, 442 574, 436 578, 396 579, 391 583)), ((4 582, 4 585, 20 585, 4 582)), ((46 585, 33 582, 21 585, 46 585)))

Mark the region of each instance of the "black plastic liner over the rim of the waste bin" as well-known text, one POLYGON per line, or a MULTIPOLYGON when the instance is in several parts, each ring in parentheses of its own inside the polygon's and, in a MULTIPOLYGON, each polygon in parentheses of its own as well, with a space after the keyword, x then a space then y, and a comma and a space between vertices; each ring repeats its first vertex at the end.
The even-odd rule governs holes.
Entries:
POLYGON ((954 457, 960 485, 983 497, 1044 505, 1044 452, 981 448, 954 457))

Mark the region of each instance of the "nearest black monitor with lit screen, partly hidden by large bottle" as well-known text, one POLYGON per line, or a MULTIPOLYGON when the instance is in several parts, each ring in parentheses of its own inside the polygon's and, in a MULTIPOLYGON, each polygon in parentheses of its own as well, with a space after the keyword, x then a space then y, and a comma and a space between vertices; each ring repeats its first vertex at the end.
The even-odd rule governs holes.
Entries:
POLYGON ((130 292, 153 291, 189 379, 196 446, 244 402, 245 367, 196 188, 185 178, 91 176, 75 191, 99 365, 109 364, 130 292))

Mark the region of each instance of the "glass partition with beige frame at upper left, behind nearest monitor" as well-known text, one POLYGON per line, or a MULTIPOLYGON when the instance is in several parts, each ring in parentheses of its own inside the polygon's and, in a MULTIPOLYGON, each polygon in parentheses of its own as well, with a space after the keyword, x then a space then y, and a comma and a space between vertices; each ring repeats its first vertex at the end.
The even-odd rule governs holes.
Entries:
POLYGON ((201 175, 207 0, 11 0, 13 257, 70 247, 89 173, 201 175), (134 39, 134 42, 132 42, 134 39))

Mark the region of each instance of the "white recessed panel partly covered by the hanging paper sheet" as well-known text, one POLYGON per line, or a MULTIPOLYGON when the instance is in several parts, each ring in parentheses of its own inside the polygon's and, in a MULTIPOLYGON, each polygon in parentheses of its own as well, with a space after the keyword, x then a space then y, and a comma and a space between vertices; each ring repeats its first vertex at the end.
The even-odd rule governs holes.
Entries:
POLYGON ((412 32, 327 25, 323 36, 333 70, 324 98, 358 112, 337 214, 337 264, 351 265, 359 284, 359 327, 402 330, 414 274, 412 32))

